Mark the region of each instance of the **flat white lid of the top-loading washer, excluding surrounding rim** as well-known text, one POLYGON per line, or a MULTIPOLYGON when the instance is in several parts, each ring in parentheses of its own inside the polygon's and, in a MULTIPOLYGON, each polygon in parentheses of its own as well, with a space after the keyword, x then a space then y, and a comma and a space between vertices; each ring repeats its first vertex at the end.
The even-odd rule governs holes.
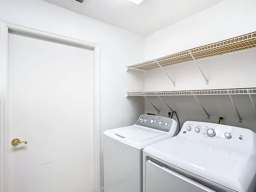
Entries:
POLYGON ((142 126, 120 127, 116 129, 111 129, 110 132, 118 136, 134 140, 136 142, 142 142, 166 134, 157 130, 144 128, 142 126))

